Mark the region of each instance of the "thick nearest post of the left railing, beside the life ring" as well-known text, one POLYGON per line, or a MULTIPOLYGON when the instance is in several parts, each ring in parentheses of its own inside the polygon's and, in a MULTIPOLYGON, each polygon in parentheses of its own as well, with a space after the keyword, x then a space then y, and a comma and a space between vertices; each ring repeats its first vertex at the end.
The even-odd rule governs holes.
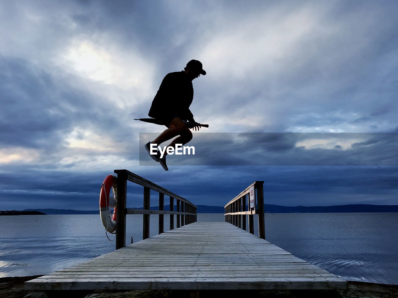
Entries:
POLYGON ((126 195, 127 174, 117 173, 116 249, 126 246, 126 195))

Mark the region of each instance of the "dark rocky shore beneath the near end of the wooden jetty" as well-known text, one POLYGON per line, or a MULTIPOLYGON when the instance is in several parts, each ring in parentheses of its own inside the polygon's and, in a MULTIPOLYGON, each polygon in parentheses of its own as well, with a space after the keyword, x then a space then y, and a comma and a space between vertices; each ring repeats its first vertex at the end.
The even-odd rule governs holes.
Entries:
MULTIPOLYGON (((59 291, 32 292, 23 289, 23 283, 35 279, 41 275, 26 277, 3 277, 0 278, 0 298, 52 298, 62 297, 59 291)), ((225 291, 222 293, 215 290, 200 291, 199 296, 220 295, 229 297, 248 296, 248 291, 225 291)), ((134 291, 73 291, 74 298, 189 298, 189 290, 134 290, 134 291)), ((278 298, 396 298, 398 297, 398 285, 363 283, 357 281, 348 282, 348 290, 323 291, 323 290, 275 290, 275 291, 251 291, 250 297, 278 297, 278 298)))

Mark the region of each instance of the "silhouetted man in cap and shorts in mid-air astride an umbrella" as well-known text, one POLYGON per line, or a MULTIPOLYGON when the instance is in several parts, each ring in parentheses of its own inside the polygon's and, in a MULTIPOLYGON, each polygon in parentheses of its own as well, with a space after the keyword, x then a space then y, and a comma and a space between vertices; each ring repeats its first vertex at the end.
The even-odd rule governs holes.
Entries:
MULTIPOLYGON (((168 146, 175 147, 176 144, 185 145, 191 141, 192 133, 181 120, 195 122, 193 114, 189 110, 189 106, 193 100, 192 81, 201 74, 206 74, 202 63, 198 60, 189 61, 181 72, 171 72, 164 77, 152 101, 148 116, 159 120, 168 129, 152 142, 146 143, 145 149, 152 159, 158 161, 166 171, 168 170, 166 165, 167 152, 164 152, 162 158, 160 158, 159 151, 156 155, 152 155, 150 154, 150 144, 158 146, 176 135, 179 135, 179 137, 174 139, 168 146)), ((199 130, 199 126, 195 126, 194 128, 195 130, 199 130)))

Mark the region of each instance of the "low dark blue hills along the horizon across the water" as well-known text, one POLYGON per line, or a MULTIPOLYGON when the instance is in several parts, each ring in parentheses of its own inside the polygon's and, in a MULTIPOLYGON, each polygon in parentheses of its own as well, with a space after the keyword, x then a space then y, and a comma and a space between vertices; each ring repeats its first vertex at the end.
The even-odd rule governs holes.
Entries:
MULTIPOLYGON (((143 209, 143 207, 133 207, 143 209)), ((159 206, 150 207, 152 210, 159 210, 159 206)), ((170 210, 170 205, 165 205, 164 210, 170 210)), ((174 205, 177 210, 177 205, 174 205)), ((247 210, 247 206, 246 206, 247 210)), ((335 206, 280 206, 265 204, 266 213, 347 213, 347 212, 398 212, 398 205, 335 205, 335 206)), ((71 210, 71 209, 25 209, 23 211, 39 211, 45 214, 100 214, 100 210, 71 210)), ((224 213, 222 206, 197 205, 197 213, 224 213)))

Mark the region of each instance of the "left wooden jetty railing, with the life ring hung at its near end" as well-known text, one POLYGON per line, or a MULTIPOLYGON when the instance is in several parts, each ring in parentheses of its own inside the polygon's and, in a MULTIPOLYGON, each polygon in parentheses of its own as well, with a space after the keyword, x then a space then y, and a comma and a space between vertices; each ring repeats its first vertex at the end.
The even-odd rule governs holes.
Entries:
POLYGON ((174 215, 176 215, 177 228, 184 224, 197 221, 197 207, 187 199, 176 195, 153 182, 146 180, 128 170, 114 170, 117 174, 117 213, 116 213, 116 249, 126 246, 126 215, 142 214, 142 239, 149 238, 149 217, 151 214, 159 215, 159 234, 164 232, 164 215, 170 214, 170 230, 174 229, 174 215), (144 209, 126 208, 127 181, 144 186, 144 209), (150 210, 150 191, 159 193, 159 210, 150 210), (164 195, 170 197, 170 211, 164 211, 164 195), (174 199, 176 199, 177 210, 174 211, 174 199))

